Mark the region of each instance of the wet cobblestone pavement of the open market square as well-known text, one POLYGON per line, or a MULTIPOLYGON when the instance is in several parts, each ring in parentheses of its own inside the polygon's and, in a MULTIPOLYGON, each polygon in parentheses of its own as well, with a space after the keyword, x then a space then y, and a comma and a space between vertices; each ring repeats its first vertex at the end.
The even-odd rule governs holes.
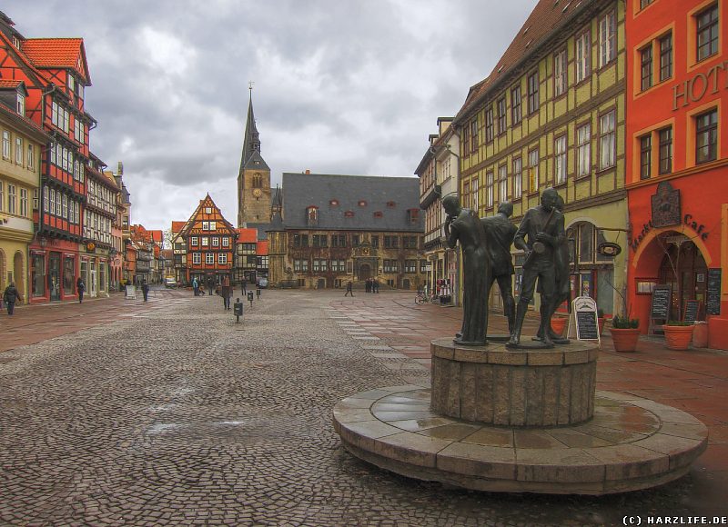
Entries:
POLYGON ((457 322, 411 297, 265 291, 236 324, 218 297, 174 292, 40 342, 30 316, 25 330, 14 320, 15 341, 31 344, 0 353, 0 523, 611 525, 723 505, 693 499, 713 490, 705 474, 602 498, 490 494, 349 455, 333 405, 428 385, 423 343, 457 322), (371 327, 381 319, 366 313, 403 318, 371 327))

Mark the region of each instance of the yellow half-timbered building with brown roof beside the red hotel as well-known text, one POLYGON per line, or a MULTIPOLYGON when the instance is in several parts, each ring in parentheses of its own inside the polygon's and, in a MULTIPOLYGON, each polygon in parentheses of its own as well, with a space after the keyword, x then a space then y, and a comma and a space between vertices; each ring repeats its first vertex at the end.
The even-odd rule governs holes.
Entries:
MULTIPOLYGON (((621 305, 625 277, 626 251, 600 253, 627 244, 625 69, 622 2, 541 0, 454 121, 463 205, 485 217, 510 201, 518 224, 554 187, 565 202, 572 296, 594 297, 604 313, 621 305)), ((491 303, 499 306, 497 288, 491 303)))

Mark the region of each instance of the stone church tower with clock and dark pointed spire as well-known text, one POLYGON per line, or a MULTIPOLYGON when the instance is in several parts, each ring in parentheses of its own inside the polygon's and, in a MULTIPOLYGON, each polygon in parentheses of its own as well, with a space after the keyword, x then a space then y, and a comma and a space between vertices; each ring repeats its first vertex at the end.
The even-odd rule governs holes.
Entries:
POLYGON ((253 86, 250 85, 248 122, 238 171, 238 227, 270 223, 270 168, 260 155, 260 137, 253 116, 253 86))

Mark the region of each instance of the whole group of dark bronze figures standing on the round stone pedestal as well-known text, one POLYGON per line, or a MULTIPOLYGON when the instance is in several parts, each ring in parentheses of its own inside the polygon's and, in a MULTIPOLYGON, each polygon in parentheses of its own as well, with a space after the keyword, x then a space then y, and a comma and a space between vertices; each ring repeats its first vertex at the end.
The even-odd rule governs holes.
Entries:
POLYGON ((508 345, 520 346, 521 327, 538 281, 541 325, 536 338, 551 346, 558 338, 551 331, 551 316, 569 298, 571 287, 561 196, 553 188, 543 191, 541 204, 524 214, 518 228, 509 219, 513 205, 508 202, 499 206, 498 214, 482 219, 462 208, 457 195, 444 197, 442 205, 448 245, 454 248, 460 242, 463 258, 463 320, 455 342, 486 343, 490 287, 498 282, 508 318, 508 345), (526 256, 517 304, 512 293, 511 244, 526 256))

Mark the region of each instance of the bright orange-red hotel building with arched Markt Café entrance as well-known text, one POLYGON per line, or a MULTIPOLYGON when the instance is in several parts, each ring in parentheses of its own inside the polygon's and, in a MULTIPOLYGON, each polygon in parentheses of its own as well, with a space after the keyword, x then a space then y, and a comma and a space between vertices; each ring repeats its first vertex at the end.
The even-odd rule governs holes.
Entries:
POLYGON ((627 304, 643 333, 652 291, 697 303, 728 349, 728 0, 628 0, 627 304))

